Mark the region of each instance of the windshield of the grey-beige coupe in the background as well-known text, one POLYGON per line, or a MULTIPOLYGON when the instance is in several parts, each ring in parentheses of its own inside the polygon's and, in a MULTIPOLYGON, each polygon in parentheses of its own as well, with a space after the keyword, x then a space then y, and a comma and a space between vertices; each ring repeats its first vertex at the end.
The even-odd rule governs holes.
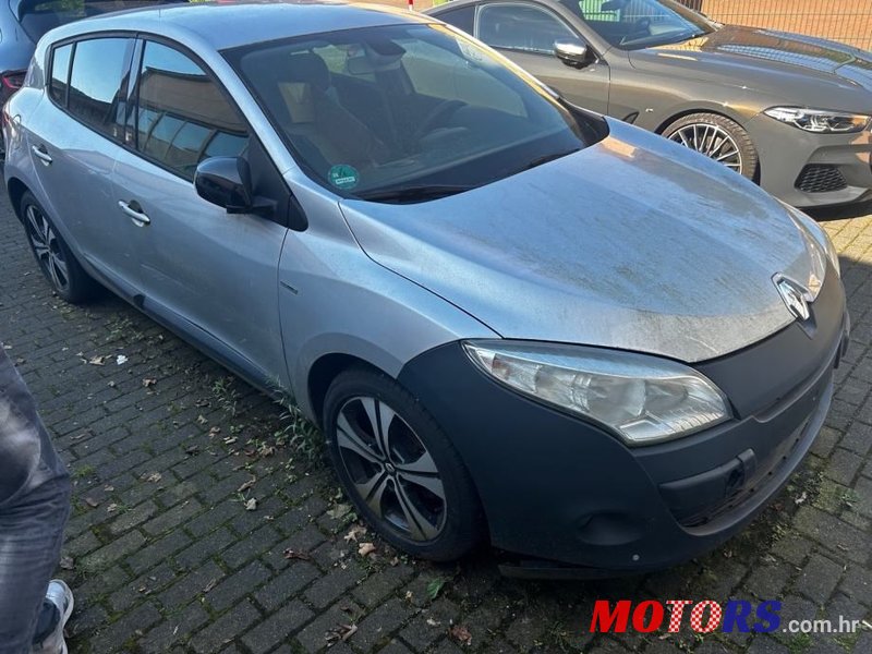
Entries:
POLYGON ((673 0, 561 0, 603 39, 625 50, 675 44, 716 26, 673 0))

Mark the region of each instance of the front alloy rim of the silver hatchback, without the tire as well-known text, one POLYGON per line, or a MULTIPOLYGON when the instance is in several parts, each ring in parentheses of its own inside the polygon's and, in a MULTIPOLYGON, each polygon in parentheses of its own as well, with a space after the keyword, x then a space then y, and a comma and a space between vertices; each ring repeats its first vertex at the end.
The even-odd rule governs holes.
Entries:
POLYGON ((435 540, 447 502, 439 471, 409 424, 385 402, 354 397, 339 409, 336 440, 364 504, 400 536, 435 540))

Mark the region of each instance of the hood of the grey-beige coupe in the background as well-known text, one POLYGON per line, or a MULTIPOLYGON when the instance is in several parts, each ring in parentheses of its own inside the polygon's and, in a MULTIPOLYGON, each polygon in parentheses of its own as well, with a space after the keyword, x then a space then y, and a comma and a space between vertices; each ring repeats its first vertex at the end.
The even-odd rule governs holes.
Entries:
POLYGON ((819 94, 821 84, 872 90, 872 52, 798 34, 725 25, 697 39, 630 52, 633 65, 664 58, 686 61, 691 76, 720 72, 734 85, 761 90, 772 90, 778 75, 788 88, 811 85, 819 94))

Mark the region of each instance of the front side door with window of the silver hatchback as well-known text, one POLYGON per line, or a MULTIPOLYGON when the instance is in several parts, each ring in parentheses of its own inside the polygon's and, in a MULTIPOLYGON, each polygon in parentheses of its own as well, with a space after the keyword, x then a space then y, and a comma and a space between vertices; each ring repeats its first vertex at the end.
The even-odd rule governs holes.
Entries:
POLYGON ((178 45, 141 43, 112 179, 116 215, 141 225, 133 246, 144 308, 262 386, 284 385, 278 263, 287 229, 229 215, 193 184, 209 157, 245 157, 255 184, 278 172, 204 65, 178 45))

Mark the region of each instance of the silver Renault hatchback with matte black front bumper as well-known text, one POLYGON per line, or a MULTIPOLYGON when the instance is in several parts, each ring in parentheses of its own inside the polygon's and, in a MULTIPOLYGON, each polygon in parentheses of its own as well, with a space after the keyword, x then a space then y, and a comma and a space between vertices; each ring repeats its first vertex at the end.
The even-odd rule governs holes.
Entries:
POLYGON ((675 564, 759 511, 829 405, 848 318, 815 222, 431 17, 86 20, 3 122, 58 294, 96 280, 293 398, 414 555, 675 564))

